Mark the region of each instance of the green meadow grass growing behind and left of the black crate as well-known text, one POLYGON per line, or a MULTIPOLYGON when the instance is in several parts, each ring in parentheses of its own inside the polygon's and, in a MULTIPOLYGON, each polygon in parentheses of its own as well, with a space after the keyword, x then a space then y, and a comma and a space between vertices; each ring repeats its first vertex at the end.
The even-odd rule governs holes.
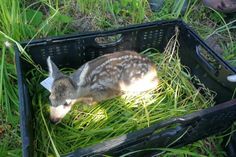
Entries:
MULTIPOLYGON (((173 2, 167 0, 157 13, 150 11, 146 0, 121 0, 120 3, 111 0, 0 0, 0 155, 21 154, 12 47, 17 41, 181 17, 202 38, 212 33, 226 36, 230 42, 223 45, 223 57, 236 65, 236 37, 231 33, 235 31, 235 21, 225 22, 224 14, 204 7, 201 1, 191 1, 184 15, 180 14, 183 1, 173 6, 173 2)), ((30 58, 26 55, 26 59, 30 58)))

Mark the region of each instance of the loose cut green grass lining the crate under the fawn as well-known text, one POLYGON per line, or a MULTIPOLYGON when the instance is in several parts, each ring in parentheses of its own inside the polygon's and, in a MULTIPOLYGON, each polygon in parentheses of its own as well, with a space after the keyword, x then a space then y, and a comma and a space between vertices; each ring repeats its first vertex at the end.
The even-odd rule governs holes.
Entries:
POLYGON ((199 81, 181 65, 177 47, 175 41, 167 45, 165 53, 154 49, 143 52, 158 67, 160 84, 155 90, 139 96, 125 95, 95 106, 76 104, 57 125, 49 122, 49 93, 39 85, 45 76, 31 71, 34 77, 28 82, 35 111, 36 153, 39 156, 66 154, 212 106, 213 93, 203 86, 203 96, 192 85, 191 79, 199 81))

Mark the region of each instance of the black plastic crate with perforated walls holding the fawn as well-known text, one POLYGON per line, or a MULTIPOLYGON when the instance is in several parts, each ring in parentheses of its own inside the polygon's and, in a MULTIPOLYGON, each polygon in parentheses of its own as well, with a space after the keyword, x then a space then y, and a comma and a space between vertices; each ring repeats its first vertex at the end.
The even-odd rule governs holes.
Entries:
MULTIPOLYGON (((47 70, 46 59, 50 55, 59 67, 78 68, 86 61, 118 50, 141 52, 153 47, 163 52, 169 39, 180 29, 179 56, 191 75, 197 76, 209 89, 217 92, 216 105, 186 116, 172 118, 148 128, 117 137, 88 148, 75 150, 68 156, 91 156, 108 154, 118 156, 130 151, 153 147, 183 146, 204 137, 219 133, 236 120, 236 100, 231 100, 236 83, 227 81, 227 76, 236 71, 212 51, 184 22, 180 20, 158 21, 104 32, 88 32, 62 37, 24 42, 26 52, 36 64, 47 70), (103 37, 116 39, 103 43, 103 37), (231 100, 231 101, 229 101, 231 100), (157 131, 162 129, 162 131, 157 131)), ((20 99, 20 125, 23 156, 33 156, 33 110, 31 97, 25 82, 26 73, 33 67, 24 61, 16 48, 20 99)), ((135 155, 151 155, 146 151, 135 155)))

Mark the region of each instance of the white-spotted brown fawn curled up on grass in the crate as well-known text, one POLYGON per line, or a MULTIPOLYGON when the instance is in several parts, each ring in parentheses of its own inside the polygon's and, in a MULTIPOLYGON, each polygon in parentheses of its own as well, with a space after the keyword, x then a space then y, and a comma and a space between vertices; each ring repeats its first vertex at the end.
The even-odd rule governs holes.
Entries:
POLYGON ((49 99, 50 120, 59 122, 73 104, 95 104, 125 93, 138 94, 158 84, 156 65, 135 51, 118 51, 95 58, 70 76, 47 59, 53 84, 49 99))

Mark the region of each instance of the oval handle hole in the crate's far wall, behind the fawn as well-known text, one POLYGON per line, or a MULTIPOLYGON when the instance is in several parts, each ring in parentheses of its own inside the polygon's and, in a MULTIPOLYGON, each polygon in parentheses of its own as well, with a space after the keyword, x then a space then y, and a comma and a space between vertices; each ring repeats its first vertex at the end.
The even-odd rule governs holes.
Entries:
POLYGON ((122 38, 123 38, 122 34, 101 36, 101 37, 96 37, 95 42, 99 46, 116 45, 117 43, 119 43, 122 40, 122 38))

